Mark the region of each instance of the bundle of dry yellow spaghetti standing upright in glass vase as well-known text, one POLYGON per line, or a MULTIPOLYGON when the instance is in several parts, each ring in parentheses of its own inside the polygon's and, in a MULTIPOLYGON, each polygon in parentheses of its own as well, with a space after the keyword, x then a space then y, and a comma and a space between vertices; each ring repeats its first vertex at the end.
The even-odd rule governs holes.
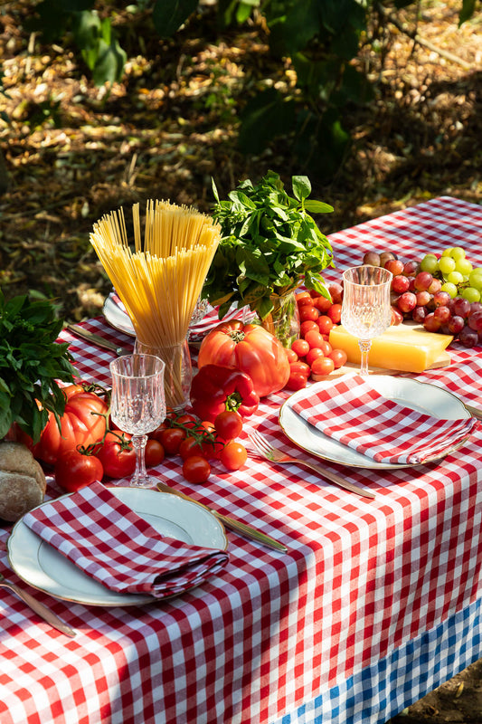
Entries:
POLYGON ((220 240, 220 227, 194 207, 152 200, 146 205, 144 235, 138 204, 133 206, 132 221, 133 246, 122 209, 94 224, 90 242, 128 311, 138 351, 164 359, 166 403, 178 407, 185 402, 187 330, 220 240))

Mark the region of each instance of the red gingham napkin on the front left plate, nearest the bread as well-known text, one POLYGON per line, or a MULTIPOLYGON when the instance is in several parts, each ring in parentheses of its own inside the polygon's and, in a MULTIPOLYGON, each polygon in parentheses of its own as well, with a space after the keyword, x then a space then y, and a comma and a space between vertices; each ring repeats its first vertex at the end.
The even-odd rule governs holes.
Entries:
POLYGON ((32 510, 24 523, 88 576, 122 593, 177 595, 228 561, 223 550, 162 536, 97 481, 32 510))

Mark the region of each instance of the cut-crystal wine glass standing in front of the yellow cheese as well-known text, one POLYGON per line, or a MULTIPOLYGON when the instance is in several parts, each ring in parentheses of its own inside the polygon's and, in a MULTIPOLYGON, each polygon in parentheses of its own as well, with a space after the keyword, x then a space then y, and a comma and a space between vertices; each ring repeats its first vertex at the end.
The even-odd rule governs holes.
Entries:
POLYGON ((360 375, 368 375, 368 354, 373 337, 390 327, 392 272, 379 266, 356 266, 343 273, 342 324, 358 338, 360 375))

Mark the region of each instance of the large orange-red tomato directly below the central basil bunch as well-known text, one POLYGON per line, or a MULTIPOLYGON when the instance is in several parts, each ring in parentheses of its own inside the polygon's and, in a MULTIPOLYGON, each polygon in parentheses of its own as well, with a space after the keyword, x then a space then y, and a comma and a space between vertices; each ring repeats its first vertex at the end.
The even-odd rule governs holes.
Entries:
POLYGON ((257 324, 233 320, 203 338, 197 366, 238 367, 252 379, 260 397, 278 392, 288 382, 289 362, 279 339, 257 324))

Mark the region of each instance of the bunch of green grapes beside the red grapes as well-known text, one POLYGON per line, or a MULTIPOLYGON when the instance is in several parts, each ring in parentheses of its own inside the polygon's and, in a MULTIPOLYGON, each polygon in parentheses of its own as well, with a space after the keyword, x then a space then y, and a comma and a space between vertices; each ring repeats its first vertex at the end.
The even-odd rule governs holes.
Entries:
POLYGON ((444 249, 440 257, 425 254, 420 269, 438 277, 443 282, 441 291, 447 291, 452 299, 463 297, 473 302, 482 298, 482 267, 474 269, 461 246, 444 249))

